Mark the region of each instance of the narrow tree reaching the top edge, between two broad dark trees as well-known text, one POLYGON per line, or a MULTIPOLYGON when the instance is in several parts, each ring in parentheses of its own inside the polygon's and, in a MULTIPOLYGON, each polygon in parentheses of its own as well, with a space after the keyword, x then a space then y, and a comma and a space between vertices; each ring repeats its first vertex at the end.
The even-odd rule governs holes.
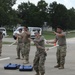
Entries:
POLYGON ((39 9, 38 18, 40 18, 40 26, 43 26, 44 22, 48 22, 48 3, 46 3, 45 0, 40 0, 37 7, 39 9))

